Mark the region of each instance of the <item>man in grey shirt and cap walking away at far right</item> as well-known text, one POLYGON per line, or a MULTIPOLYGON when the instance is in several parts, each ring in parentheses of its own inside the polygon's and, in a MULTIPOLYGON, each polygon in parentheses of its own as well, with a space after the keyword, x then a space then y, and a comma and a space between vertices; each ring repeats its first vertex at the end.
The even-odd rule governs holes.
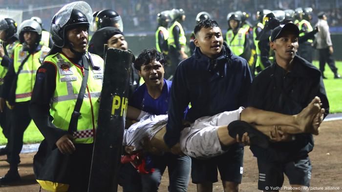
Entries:
POLYGON ((327 18, 325 16, 325 13, 320 12, 318 14, 318 22, 315 25, 320 29, 320 32, 317 34, 315 43, 316 49, 318 49, 318 52, 320 54, 320 71, 322 73, 323 78, 326 78, 324 77, 323 72, 325 63, 328 63, 331 71, 334 73, 334 78, 341 78, 341 76, 337 73, 337 68, 335 66, 335 59, 333 57, 333 43, 330 38, 329 25, 328 22, 326 22, 326 20, 327 18))

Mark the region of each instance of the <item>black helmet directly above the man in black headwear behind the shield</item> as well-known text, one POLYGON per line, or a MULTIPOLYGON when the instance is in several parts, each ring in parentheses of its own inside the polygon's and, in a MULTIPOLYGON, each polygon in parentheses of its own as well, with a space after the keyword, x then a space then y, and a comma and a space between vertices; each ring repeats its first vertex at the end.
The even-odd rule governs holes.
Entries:
POLYGON ((100 11, 96 16, 95 21, 97 29, 101 29, 104 27, 116 27, 120 29, 120 31, 124 30, 120 15, 116 11, 111 9, 100 11))

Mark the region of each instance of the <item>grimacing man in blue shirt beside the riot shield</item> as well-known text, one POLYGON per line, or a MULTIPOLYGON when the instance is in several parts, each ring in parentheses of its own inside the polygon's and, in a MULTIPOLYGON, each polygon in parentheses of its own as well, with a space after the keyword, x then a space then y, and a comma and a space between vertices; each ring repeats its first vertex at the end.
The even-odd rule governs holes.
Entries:
MULTIPOLYGON (((128 99, 130 106, 153 115, 165 115, 168 113, 171 81, 164 79, 165 63, 166 60, 162 54, 155 49, 144 50, 138 56, 134 62, 134 67, 138 70, 139 75, 143 77, 145 83, 138 87, 131 98, 128 99)), ((189 156, 171 153, 149 155, 154 168, 153 173, 138 175, 130 164, 124 165, 120 171, 120 180, 122 181, 121 185, 124 192, 157 192, 166 166, 168 166, 170 177, 169 191, 187 191, 191 166, 189 156), (137 179, 138 181, 141 180, 141 182, 137 182, 137 179)))

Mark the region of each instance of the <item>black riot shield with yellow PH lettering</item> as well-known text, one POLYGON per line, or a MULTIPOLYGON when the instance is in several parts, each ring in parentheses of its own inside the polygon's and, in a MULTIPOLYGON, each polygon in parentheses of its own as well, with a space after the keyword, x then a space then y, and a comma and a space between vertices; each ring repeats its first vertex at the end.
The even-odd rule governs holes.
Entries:
POLYGON ((107 50, 88 192, 117 191, 133 57, 128 51, 107 50))

